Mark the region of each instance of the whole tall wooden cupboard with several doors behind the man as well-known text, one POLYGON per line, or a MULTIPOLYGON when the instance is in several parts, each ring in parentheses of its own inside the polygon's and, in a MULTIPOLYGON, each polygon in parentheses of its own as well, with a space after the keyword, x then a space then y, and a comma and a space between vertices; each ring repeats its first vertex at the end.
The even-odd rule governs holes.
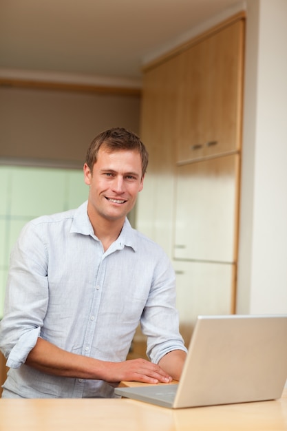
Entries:
POLYGON ((172 260, 187 344, 198 315, 235 312, 243 68, 242 12, 144 71, 136 227, 172 260))

